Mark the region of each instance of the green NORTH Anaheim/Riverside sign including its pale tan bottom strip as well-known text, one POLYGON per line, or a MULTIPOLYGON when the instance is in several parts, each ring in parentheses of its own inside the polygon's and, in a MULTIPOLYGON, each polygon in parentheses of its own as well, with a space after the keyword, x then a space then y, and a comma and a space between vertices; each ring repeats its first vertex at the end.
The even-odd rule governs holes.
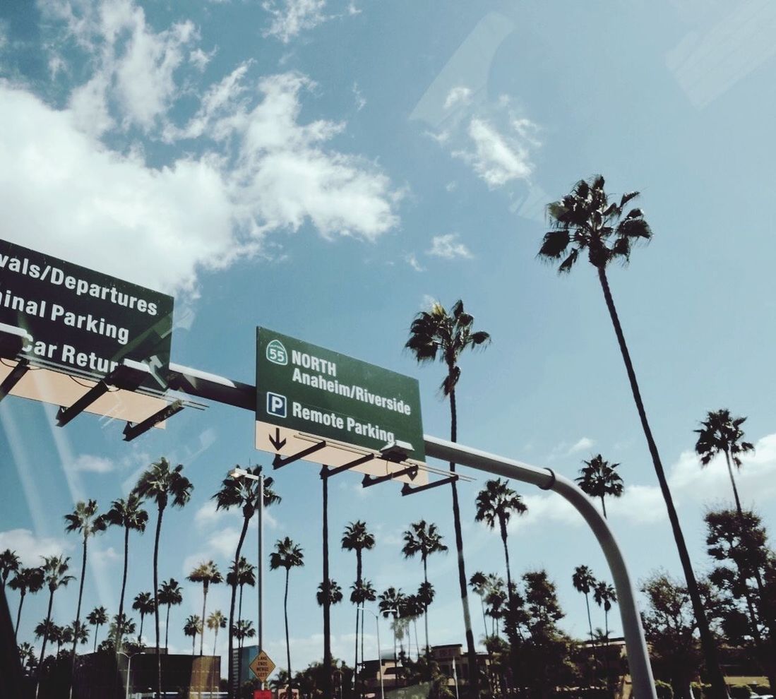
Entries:
POLYGON ((256 448, 423 485, 417 379, 258 328, 256 448))

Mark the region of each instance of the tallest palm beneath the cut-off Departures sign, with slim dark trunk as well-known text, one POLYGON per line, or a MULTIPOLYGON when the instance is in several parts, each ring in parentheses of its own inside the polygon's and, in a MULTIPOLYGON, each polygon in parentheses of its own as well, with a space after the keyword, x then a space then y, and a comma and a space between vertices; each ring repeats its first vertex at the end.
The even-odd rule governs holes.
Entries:
POLYGON ((161 697, 161 653, 159 652, 159 537, 161 535, 161 520, 168 503, 173 507, 183 507, 192 497, 194 486, 182 474, 183 465, 170 468, 170 462, 161 457, 152 463, 140 476, 133 492, 141 498, 153 500, 156 503, 157 519, 154 535, 154 626, 156 631, 156 668, 157 694, 161 697))

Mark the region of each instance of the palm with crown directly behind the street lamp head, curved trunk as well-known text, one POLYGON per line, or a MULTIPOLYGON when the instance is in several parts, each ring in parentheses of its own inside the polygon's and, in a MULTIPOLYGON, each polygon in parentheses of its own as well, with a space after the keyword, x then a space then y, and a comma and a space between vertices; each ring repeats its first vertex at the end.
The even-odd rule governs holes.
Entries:
MULTIPOLYGON (((244 469, 248 474, 251 476, 261 476, 262 475, 262 467, 256 466, 254 469, 244 469)), ((213 495, 213 499, 216 500, 216 509, 217 510, 229 510, 232 507, 240 507, 243 514, 243 524, 242 528, 240 530, 240 538, 237 540, 237 549, 234 552, 234 563, 232 566, 232 569, 239 569, 240 567, 240 552, 242 550, 243 542, 245 541, 245 534, 248 531, 248 523, 251 521, 251 517, 255 514, 255 512, 258 511, 258 505, 259 505, 259 483, 260 481, 252 478, 246 478, 245 476, 242 476, 241 478, 232 478, 231 476, 227 476, 227 478, 223 479, 221 482, 221 489, 213 495)), ((272 485, 275 483, 275 480, 272 479, 271 476, 266 476, 264 478, 264 492, 262 493, 263 497, 263 504, 265 507, 269 507, 270 505, 274 505, 275 503, 279 503, 282 498, 275 493, 274 490, 272 490, 272 485)), ((237 593, 237 585, 240 585, 240 604, 242 607, 242 585, 245 583, 240 583, 239 578, 234 578, 233 580, 230 580, 230 577, 227 574, 227 583, 231 586, 231 597, 229 601, 229 618, 234 619, 234 600, 237 593)), ((204 618, 204 612, 203 612, 203 618, 204 618)), ((234 624, 229 625, 229 657, 232 656, 232 650, 234 649, 234 638, 232 634, 232 629, 234 628, 234 624)), ((242 656, 239 656, 239 659, 237 660, 237 672, 242 672, 242 656)), ((229 682, 230 687, 232 684, 232 664, 229 663, 229 682)), ((238 676, 239 677, 239 674, 238 676)))

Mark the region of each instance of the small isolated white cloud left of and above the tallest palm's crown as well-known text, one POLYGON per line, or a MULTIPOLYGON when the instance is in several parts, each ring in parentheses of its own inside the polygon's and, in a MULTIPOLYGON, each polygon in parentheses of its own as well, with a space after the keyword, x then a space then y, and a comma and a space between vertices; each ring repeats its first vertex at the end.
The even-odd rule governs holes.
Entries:
POLYGON ((528 149, 519 140, 499 133, 485 119, 474 118, 469 122, 469 139, 474 150, 454 151, 474 168, 490 187, 499 187, 515 179, 527 180, 533 166, 528 149))

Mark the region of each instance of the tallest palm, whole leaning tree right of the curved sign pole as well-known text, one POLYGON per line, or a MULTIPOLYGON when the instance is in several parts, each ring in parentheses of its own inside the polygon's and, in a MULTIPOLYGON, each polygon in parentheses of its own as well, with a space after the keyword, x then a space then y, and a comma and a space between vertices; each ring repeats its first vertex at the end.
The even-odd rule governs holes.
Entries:
POLYGON ((625 205, 636 196, 639 196, 639 192, 627 192, 622 195, 619 203, 610 203, 604 190, 604 178, 601 175, 595 175, 590 182, 580 180, 563 199, 547 206, 547 215, 553 230, 545 234, 538 257, 546 261, 561 261, 558 272, 563 274, 563 272, 570 272, 580 257, 580 253, 587 252, 588 261, 598 273, 598 281, 604 292, 611 324, 615 328, 633 400, 636 403, 636 410, 639 413, 639 420, 660 484, 660 492, 663 493, 663 500, 665 500, 668 510, 668 518, 674 532, 684 578, 687 580, 688 593, 692 600, 695 618, 698 621, 698 630, 701 634, 701 644, 713 694, 715 699, 726 699, 725 678, 719 669, 716 646, 708 628, 703 600, 698 590, 698 581, 695 579, 695 573, 692 569, 690 554, 684 542, 684 534, 681 531, 681 524, 676 507, 674 507, 674 498, 668 487, 663 463, 660 461, 660 454, 657 452, 652 430, 646 418, 639 384, 636 381, 636 371, 633 369, 630 352, 625 344, 625 335, 622 333, 622 326, 606 275, 609 263, 629 261, 632 245, 639 240, 646 241, 652 237, 652 230, 646 223, 641 209, 630 209, 623 216, 625 205))

